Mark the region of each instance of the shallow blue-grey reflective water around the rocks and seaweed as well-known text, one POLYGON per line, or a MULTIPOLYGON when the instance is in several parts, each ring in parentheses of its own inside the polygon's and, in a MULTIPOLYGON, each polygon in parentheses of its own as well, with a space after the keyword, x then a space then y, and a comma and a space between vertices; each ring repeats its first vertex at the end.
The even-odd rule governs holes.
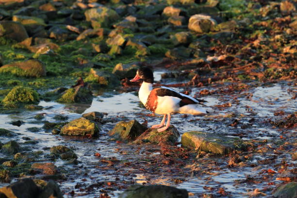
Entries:
MULTIPOLYGON (((160 80, 160 75, 162 72, 158 73, 157 80, 160 80)), ((181 91, 181 88, 176 88, 178 91, 181 91)), ((203 88, 193 88, 193 96, 196 92, 199 92, 203 88)), ((209 89, 212 89, 209 87, 209 89)), ((273 139, 276 136, 279 136, 277 129, 271 127, 267 128, 265 126, 259 126, 259 123, 253 124, 246 129, 241 129, 240 127, 231 127, 228 126, 231 120, 226 119, 225 117, 229 114, 235 113, 237 119, 240 119, 240 122, 247 124, 248 119, 251 116, 251 113, 256 113, 256 119, 267 119, 267 117, 272 116, 276 110, 285 109, 288 112, 296 111, 296 102, 291 99, 291 96, 287 93, 286 88, 282 84, 275 84, 272 87, 256 87, 248 90, 249 93, 253 94, 252 99, 247 99, 238 96, 239 103, 234 104, 230 108, 225 108, 223 110, 218 110, 216 108, 209 109, 211 111, 210 115, 206 116, 182 116, 182 115, 173 115, 171 124, 173 124, 180 134, 187 131, 206 131, 214 132, 218 134, 224 134, 228 136, 236 136, 237 133, 243 133, 243 139, 273 139), (276 99, 277 98, 277 99, 276 99), (252 109, 252 111, 246 111, 246 105, 252 109), (240 117, 240 118, 238 118, 240 117)), ((243 93, 241 93, 243 94, 243 93)), ((208 105, 213 106, 216 104, 226 103, 226 101, 231 101, 233 96, 223 95, 218 97, 206 96, 203 99, 209 101, 208 105)), ((102 169, 98 170, 97 166, 102 165, 100 159, 94 157, 95 152, 99 152, 102 158, 115 157, 120 161, 129 162, 135 157, 143 157, 143 154, 135 154, 134 151, 137 147, 134 145, 127 144, 116 144, 115 142, 108 141, 107 132, 111 130, 117 121, 120 120, 131 120, 137 119, 140 123, 145 119, 148 120, 148 126, 152 124, 159 123, 162 119, 160 117, 151 117, 140 115, 149 114, 149 112, 139 105, 139 99, 135 93, 117 93, 116 91, 110 91, 104 93, 103 95, 97 96, 93 99, 91 104, 72 104, 64 105, 57 102, 46 102, 41 101, 39 105, 43 106, 44 109, 40 111, 24 111, 16 114, 7 114, 0 115, 0 128, 5 128, 17 133, 20 133, 19 136, 13 137, 30 137, 33 140, 38 140, 38 144, 30 146, 33 148, 33 151, 44 150, 44 154, 48 154, 49 150, 44 148, 50 148, 56 145, 65 145, 69 148, 74 149, 75 153, 78 155, 79 164, 78 165, 66 165, 64 161, 57 160, 55 165, 62 169, 62 173, 65 173, 67 180, 60 183, 61 190, 66 193, 65 197, 72 197, 70 194, 67 194, 70 191, 75 192, 75 197, 83 196, 86 198, 91 198, 101 194, 99 191, 90 192, 90 193, 80 193, 79 189, 75 188, 75 185, 80 183, 82 186, 87 187, 90 184, 99 182, 99 181, 115 181, 116 178, 119 178, 119 181, 133 181, 134 183, 158 183, 165 185, 174 185, 179 188, 185 188, 191 192, 190 197, 201 196, 203 193, 207 193, 203 187, 208 186, 212 187, 217 191, 219 187, 223 187, 230 194, 227 197, 241 197, 247 191, 253 190, 253 187, 246 185, 234 185, 235 180, 243 180, 248 175, 256 176, 258 173, 251 171, 251 167, 242 167, 236 170, 227 168, 228 159, 221 159, 212 157, 213 160, 217 160, 221 167, 221 171, 211 171, 213 175, 192 175, 189 177, 181 178, 183 182, 177 184, 172 181, 172 177, 168 173, 163 173, 155 171, 148 172, 146 174, 139 173, 132 176, 125 176, 117 172, 115 169, 102 169), (50 107, 50 108, 49 108, 50 107), (114 120, 113 122, 108 122, 102 125, 101 135, 98 139, 85 139, 85 138, 72 138, 72 137, 61 137, 59 135, 52 135, 50 130, 41 129, 43 123, 36 123, 36 120, 33 118, 34 115, 39 113, 46 113, 45 118, 42 121, 56 122, 53 119, 54 115, 62 114, 68 116, 68 121, 75 118, 79 118, 82 113, 88 112, 106 112, 108 115, 107 118, 114 120), (13 126, 10 124, 11 121, 22 120, 25 123, 20 127, 13 126), (29 127, 38 127, 40 128, 39 132, 29 132, 27 128, 29 127), (126 154, 121 154, 118 150, 123 150, 127 152, 126 154), (217 175, 216 175, 217 174, 217 175), (211 176, 211 177, 210 177, 211 176), (129 178, 129 179, 128 179, 129 178)), ((1 137, 2 138, 2 137, 1 137)), ((13 138, 3 137, 1 142, 9 141, 13 138)), ((25 142, 25 140, 20 140, 19 142, 25 142)), ((147 147, 147 146, 146 146, 147 147)), ((141 148, 145 149, 145 148, 141 148)), ((160 152, 157 150, 152 152, 151 157, 159 156, 160 152)), ((4 157, 3 154, 0 154, 0 157, 4 157)), ((256 159, 256 158, 255 158, 256 159)), ((255 160, 254 159, 254 160, 255 160)), ((257 160, 256 160, 257 161, 257 160)), ((145 165, 147 162, 140 161, 141 165, 145 165)), ((129 172, 133 167, 126 167, 129 172)), ((168 167, 170 168, 170 167, 168 167)), ((135 168, 134 168, 135 169, 135 168)), ((189 175, 191 175, 190 170, 183 170, 189 175)), ((5 186, 6 183, 0 183, 0 186, 5 186)), ((257 188, 261 188, 263 184, 257 184, 257 188)), ((117 195, 122 192, 122 190, 114 189, 109 192, 109 195, 112 198, 117 197, 117 195)), ((267 195, 269 197, 269 195, 267 195)))

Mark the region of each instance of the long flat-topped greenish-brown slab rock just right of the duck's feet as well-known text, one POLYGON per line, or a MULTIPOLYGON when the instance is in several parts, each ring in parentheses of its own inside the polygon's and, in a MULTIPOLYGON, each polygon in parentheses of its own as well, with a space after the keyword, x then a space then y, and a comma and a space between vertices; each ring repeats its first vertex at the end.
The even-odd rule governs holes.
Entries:
POLYGON ((185 132, 181 136, 181 145, 220 155, 246 148, 239 138, 207 132, 185 132))

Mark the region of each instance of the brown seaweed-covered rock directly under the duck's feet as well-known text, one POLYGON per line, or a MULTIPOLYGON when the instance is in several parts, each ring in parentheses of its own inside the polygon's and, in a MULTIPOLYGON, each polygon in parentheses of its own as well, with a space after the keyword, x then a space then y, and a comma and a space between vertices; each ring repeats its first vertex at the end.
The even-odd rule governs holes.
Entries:
POLYGON ((146 132, 137 137, 133 143, 141 144, 149 142, 152 144, 162 143, 173 145, 177 142, 179 136, 180 134, 178 130, 173 125, 170 125, 164 132, 158 132, 157 129, 148 129, 146 132))

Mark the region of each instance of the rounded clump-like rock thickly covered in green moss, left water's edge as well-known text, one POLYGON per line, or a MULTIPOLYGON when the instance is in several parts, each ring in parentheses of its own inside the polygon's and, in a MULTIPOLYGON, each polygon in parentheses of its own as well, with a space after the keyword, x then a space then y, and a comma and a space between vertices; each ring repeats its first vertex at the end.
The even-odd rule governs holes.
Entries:
POLYGON ((4 107, 11 103, 37 103, 39 101, 38 93, 30 87, 16 86, 2 100, 4 107))

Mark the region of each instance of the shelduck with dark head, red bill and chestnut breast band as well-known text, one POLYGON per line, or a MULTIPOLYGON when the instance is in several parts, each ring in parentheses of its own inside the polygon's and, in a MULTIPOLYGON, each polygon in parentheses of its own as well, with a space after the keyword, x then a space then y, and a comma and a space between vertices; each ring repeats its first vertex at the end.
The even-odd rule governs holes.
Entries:
POLYGON ((193 115, 208 113, 205 109, 198 106, 199 104, 204 105, 201 102, 207 102, 203 99, 195 99, 165 86, 153 89, 154 76, 148 67, 138 69, 135 77, 130 81, 135 82, 140 79, 143 80, 138 92, 140 101, 148 110, 164 115, 160 124, 151 127, 157 128, 158 132, 168 129, 172 113, 193 115), (166 116, 168 118, 165 125, 166 116))

